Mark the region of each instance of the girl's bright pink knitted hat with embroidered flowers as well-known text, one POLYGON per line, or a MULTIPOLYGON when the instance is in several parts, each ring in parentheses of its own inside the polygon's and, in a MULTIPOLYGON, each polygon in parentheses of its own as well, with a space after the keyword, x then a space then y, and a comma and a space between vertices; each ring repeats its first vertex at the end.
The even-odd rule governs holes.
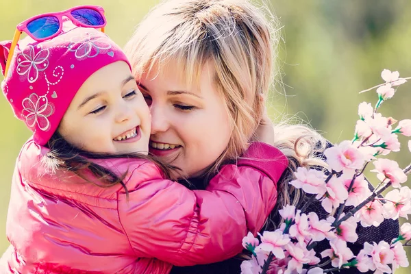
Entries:
MULTIPOLYGON (((37 42, 28 36, 18 42, 8 75, 1 82, 14 115, 45 145, 58 128, 80 86, 103 66, 127 57, 98 29, 64 22, 62 34, 37 42)), ((0 42, 4 74, 11 41, 0 42)), ((130 66, 131 67, 131 66, 130 66)))

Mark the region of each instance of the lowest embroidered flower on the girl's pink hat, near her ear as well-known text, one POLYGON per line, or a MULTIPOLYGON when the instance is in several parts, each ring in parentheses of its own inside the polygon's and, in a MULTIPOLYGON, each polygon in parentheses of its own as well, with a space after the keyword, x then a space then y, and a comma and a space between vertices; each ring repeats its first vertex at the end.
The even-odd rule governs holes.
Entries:
POLYGON ((32 93, 29 97, 23 99, 23 116, 25 116, 27 126, 38 128, 46 131, 50 128, 49 117, 54 112, 53 104, 45 96, 38 96, 32 93), (25 114, 24 112, 27 112, 25 114))

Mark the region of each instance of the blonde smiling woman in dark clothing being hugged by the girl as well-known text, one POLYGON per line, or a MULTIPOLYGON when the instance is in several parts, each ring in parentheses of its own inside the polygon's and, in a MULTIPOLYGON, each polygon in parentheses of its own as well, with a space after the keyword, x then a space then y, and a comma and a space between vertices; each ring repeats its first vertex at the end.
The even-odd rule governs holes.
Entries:
MULTIPOLYGON (((125 47, 151 110, 150 151, 188 174, 192 188, 208 186, 207 175, 215 174, 221 163, 237 160, 256 136, 264 115, 264 98, 277 71, 274 64, 279 45, 278 23, 271 16, 270 24, 262 10, 268 12, 247 0, 163 1, 147 14, 125 47), (200 100, 170 94, 196 92, 198 86, 208 87, 207 92, 201 89, 200 100), (214 119, 212 114, 217 110, 229 116, 232 133, 221 130, 226 122, 214 119), (190 127, 182 127, 183 122, 190 127), (217 128, 214 134, 221 136, 216 144, 203 138, 212 127, 217 128), (165 145, 175 148, 164 149, 165 145)), ((288 156, 289 166, 279 181, 277 203, 264 230, 281 224, 278 210, 283 206, 306 199, 288 184, 294 179, 292 171, 298 166, 324 166, 321 152, 326 142, 309 127, 275 125, 273 140, 288 156)), ((272 156, 275 159, 276 155, 272 156)), ((307 211, 323 219, 327 214, 319 203, 307 211)), ((392 220, 367 229, 358 225, 358 241, 349 247, 358 253, 365 241, 389 241, 398 231, 398 222, 392 220)), ((318 245, 316 251, 327 248, 318 245)), ((176 267, 172 273, 240 273, 240 263, 234 258, 218 264, 176 267)))

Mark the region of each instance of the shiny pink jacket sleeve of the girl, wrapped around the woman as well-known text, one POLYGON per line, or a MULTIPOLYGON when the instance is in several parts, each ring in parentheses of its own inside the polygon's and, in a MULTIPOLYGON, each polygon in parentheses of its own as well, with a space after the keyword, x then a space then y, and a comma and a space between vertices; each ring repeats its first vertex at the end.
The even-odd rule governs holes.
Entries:
MULTIPOLYGON (((128 200, 119 194, 119 218, 135 255, 187 266, 240 253, 242 238, 256 234, 275 206, 276 183, 288 164, 262 143, 245 156, 223 166, 206 190, 158 177, 137 184, 128 200)), ((129 181, 140 177, 136 169, 129 181)))

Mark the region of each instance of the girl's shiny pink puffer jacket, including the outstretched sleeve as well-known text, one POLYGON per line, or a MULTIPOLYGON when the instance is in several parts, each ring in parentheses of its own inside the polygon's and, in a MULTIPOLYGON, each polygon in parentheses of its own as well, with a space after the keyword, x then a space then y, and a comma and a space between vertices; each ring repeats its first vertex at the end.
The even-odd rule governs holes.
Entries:
MULTIPOLYGON (((42 168, 47 152, 29 140, 16 162, 7 219, 10 247, 0 273, 169 273, 231 258, 262 228, 288 161, 253 143, 237 165, 223 166, 207 190, 162 177, 147 160, 99 160, 127 172, 102 188, 42 168)), ((201 155, 199 155, 201 157, 201 155)))

